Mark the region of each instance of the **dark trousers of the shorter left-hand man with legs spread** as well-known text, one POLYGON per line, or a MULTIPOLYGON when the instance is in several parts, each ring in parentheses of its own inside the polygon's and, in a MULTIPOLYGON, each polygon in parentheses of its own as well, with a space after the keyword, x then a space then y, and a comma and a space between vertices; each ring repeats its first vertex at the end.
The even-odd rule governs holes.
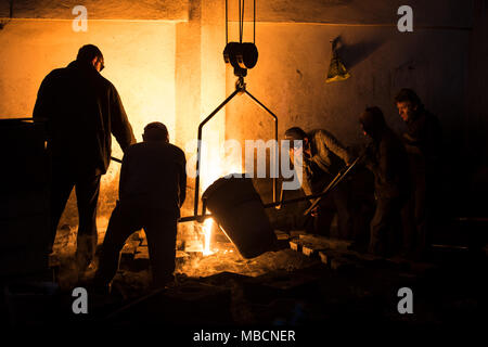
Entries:
POLYGON ((94 284, 106 286, 112 281, 126 240, 143 228, 147 236, 153 284, 165 285, 175 271, 177 220, 177 216, 162 209, 117 202, 103 241, 94 284))

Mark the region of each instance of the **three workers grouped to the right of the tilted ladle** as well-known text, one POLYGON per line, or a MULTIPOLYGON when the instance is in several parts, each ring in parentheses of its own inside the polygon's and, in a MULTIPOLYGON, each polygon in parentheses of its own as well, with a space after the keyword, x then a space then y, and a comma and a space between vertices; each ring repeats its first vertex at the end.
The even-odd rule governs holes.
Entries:
MULTIPOLYGON (((441 128, 413 90, 401 89, 395 104, 407 125, 401 138, 388 127, 380 107, 367 107, 359 116, 361 130, 370 140, 358 155, 359 166, 374 175, 375 209, 369 221, 365 250, 384 257, 425 259, 432 243, 441 128)), ((312 210, 312 232, 330 234, 332 218, 337 215, 338 235, 352 240, 351 248, 361 249, 363 239, 355 234, 358 228, 354 224, 363 218, 358 216, 357 206, 351 206, 350 177, 341 177, 355 156, 323 129, 306 133, 294 127, 286 130, 285 138, 294 142, 291 151, 303 155, 305 194, 324 192, 336 175, 342 179, 328 192, 324 204, 312 210)))

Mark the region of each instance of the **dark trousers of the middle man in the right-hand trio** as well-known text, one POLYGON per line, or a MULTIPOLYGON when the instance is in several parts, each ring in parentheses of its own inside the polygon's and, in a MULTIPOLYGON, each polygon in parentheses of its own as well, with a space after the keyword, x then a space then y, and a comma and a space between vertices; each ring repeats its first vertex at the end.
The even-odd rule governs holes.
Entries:
POLYGON ((401 246, 401 208, 400 198, 378 198, 370 224, 369 253, 378 256, 393 256, 401 246))

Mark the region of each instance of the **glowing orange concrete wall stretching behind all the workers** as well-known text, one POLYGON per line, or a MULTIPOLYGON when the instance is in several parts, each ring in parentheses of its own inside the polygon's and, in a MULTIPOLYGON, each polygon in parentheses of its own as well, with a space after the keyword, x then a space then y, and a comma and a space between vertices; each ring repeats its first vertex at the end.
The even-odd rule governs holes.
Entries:
MULTIPOLYGON (((230 1, 229 8, 229 17, 234 21, 230 23, 229 40, 235 41, 234 2, 230 1)), ((22 3, 26 17, 37 13, 29 8, 31 2, 17 2, 22 3)), ((187 158, 194 165, 195 147, 187 145, 195 140, 198 123, 234 90, 236 79, 222 59, 224 2, 179 1, 179 7, 167 8, 154 3, 143 1, 132 7, 120 2, 117 11, 104 14, 98 2, 94 13, 99 21, 89 21, 86 34, 73 33, 70 21, 3 21, 7 25, 0 30, 0 116, 29 116, 43 76, 68 64, 79 46, 90 41, 105 54, 107 67, 103 75, 119 90, 137 138, 141 140, 145 123, 163 120, 174 142, 187 149, 187 158), (118 20, 105 21, 107 16, 118 20)), ((459 143, 465 143, 463 136, 468 131, 466 105, 484 100, 479 93, 486 83, 480 75, 472 74, 470 78, 477 87, 470 89, 472 97, 467 98, 468 66, 483 69, 486 61, 470 60, 470 52, 471 56, 486 54, 480 48, 486 31, 483 24, 471 30, 473 1, 412 0, 409 4, 414 10, 414 31, 406 34, 396 28, 396 11, 403 4, 399 0, 257 3, 259 60, 248 70, 247 89, 279 116, 280 136, 294 125, 306 130, 322 127, 347 145, 361 143, 357 116, 367 105, 381 106, 388 124, 400 132, 403 125, 393 98, 400 88, 411 87, 439 116, 446 152, 458 155, 461 151, 459 143), (351 77, 325 83, 330 41, 337 37, 342 41, 339 55, 351 77)), ((9 10, 3 3, 0 15, 5 16, 9 10)), ((60 11, 55 12, 56 18, 64 18, 64 10, 60 11)), ((247 21, 252 13, 252 1, 246 1, 247 21)), ((483 18, 477 23, 483 23, 483 18)), ((252 22, 246 22, 244 41, 252 40, 252 22)), ((486 107, 478 105, 471 108, 470 119, 484 123, 486 107)), ((204 140, 211 143, 214 151, 223 139, 243 143, 246 139, 271 137, 271 118, 244 95, 236 97, 204 130, 204 140)), ((114 150, 119 156, 117 145, 114 150)), ((232 162, 226 158, 219 163, 222 158, 218 152, 211 152, 209 157, 204 158, 203 166, 211 164, 207 166, 210 171, 218 172, 226 160, 232 162)), ((111 166, 102 185, 104 216, 115 202, 117 169, 118 166, 111 166)), ((192 213, 193 193, 194 180, 190 179, 184 215, 192 213)))

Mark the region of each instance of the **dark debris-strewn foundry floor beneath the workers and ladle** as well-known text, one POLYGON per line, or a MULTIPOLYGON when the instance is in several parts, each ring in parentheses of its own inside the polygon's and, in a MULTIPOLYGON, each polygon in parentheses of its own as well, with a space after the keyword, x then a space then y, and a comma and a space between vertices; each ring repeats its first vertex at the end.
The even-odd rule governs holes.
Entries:
MULTIPOLYGON (((72 290, 89 283, 94 269, 84 278, 69 278, 69 257, 61 257, 59 290, 31 299, 35 305, 28 310, 20 305, 11 323, 120 332, 292 326, 306 329, 309 338, 369 326, 399 332, 486 326, 484 252, 435 248, 428 262, 414 262, 371 257, 347 250, 347 243, 303 233, 279 239, 281 249, 254 259, 241 258, 223 242, 210 256, 180 254, 176 283, 159 290, 151 288, 147 257, 138 257, 144 252, 136 250, 121 258, 110 295, 89 293, 88 314, 73 313, 72 290), (402 287, 413 293, 413 313, 398 310, 402 287)), ((144 241, 138 243, 143 249, 144 241)))

